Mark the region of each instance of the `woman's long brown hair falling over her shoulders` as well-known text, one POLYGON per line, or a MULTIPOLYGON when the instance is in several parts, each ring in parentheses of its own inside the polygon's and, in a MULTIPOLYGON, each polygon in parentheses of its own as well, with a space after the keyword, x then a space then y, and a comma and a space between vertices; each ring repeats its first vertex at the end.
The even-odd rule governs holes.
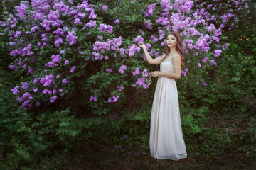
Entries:
MULTIPOLYGON (((176 40, 178 42, 178 45, 176 45, 176 51, 178 52, 178 54, 181 55, 181 69, 184 68, 184 49, 183 49, 183 43, 182 43, 182 39, 181 39, 181 34, 178 33, 178 32, 171 32, 169 33, 168 35, 174 35, 174 37, 176 37, 176 40)), ((169 55, 169 53, 171 52, 170 51, 170 48, 167 46, 167 38, 168 38, 168 35, 166 36, 166 47, 165 47, 165 51, 166 51, 166 57, 167 55, 169 55)), ((164 57, 164 59, 166 58, 164 57)))

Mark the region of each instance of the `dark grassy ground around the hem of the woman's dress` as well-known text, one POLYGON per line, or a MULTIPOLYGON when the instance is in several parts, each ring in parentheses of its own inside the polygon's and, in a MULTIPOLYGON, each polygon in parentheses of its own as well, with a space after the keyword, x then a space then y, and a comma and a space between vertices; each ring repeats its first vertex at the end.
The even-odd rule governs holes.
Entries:
POLYGON ((115 149, 114 146, 123 140, 108 139, 109 144, 106 144, 99 139, 99 142, 81 146, 70 154, 58 153, 48 161, 41 162, 40 166, 41 169, 63 170, 255 169, 250 162, 246 162, 246 152, 242 146, 235 145, 239 135, 247 130, 247 122, 230 115, 209 116, 207 120, 208 134, 202 139, 199 137, 199 142, 186 142, 188 157, 178 162, 151 157, 149 132, 141 132, 139 136, 128 136, 124 145, 121 144, 121 149, 115 149), (220 141, 223 143, 218 143, 220 141))

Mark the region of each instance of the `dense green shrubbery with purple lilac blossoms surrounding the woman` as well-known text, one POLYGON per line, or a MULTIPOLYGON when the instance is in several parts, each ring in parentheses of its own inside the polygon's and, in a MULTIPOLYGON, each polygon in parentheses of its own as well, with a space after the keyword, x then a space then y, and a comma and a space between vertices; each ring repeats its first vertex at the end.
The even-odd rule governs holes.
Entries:
MULTIPOLYGON (((176 83, 188 148, 213 154, 223 152, 221 142, 232 148, 226 133, 219 137, 206 128, 206 115, 255 114, 255 16, 247 1, 49 2, 21 1, 14 15, 8 9, 1 16, 0 153, 6 165, 0 168, 35 164, 38 155, 68 153, 99 138, 130 151, 131 140, 119 136, 149 132, 156 79, 147 73, 159 69, 147 64, 136 42, 143 38, 158 57, 171 27, 186 47, 176 83)), ((241 135, 250 161, 253 135, 251 120, 241 135)))

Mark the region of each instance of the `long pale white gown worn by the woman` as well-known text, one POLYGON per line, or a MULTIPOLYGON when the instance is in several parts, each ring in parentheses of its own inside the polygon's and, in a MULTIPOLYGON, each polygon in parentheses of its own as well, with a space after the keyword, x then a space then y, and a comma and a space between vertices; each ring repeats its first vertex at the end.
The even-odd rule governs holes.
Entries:
MULTIPOLYGON (((160 71, 174 72, 173 55, 167 57, 160 64, 160 71)), ((178 161, 187 157, 175 79, 158 77, 151 110, 149 147, 151 156, 156 159, 178 161)))

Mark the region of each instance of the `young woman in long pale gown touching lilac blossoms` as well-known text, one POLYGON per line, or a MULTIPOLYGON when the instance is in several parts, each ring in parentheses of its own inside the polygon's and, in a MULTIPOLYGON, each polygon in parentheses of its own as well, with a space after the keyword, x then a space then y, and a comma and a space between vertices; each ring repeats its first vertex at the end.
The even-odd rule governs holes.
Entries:
POLYGON ((179 160, 187 157, 181 130, 178 91, 175 79, 181 78, 184 51, 181 35, 171 32, 166 38, 166 54, 154 58, 144 44, 140 44, 149 64, 160 64, 160 71, 151 72, 158 77, 151 110, 150 154, 157 159, 179 160))

